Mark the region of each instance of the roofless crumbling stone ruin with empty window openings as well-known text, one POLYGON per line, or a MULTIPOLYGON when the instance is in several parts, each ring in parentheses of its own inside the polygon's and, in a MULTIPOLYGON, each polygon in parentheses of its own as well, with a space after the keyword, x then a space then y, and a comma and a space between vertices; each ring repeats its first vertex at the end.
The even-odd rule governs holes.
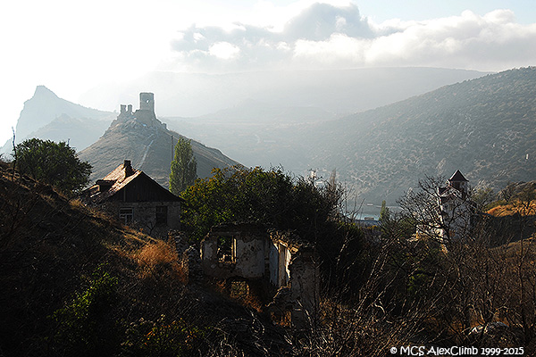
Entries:
POLYGON ((272 286, 267 311, 288 316, 295 328, 314 319, 320 283, 314 249, 290 232, 252 224, 216 226, 201 242, 201 265, 209 277, 272 286))

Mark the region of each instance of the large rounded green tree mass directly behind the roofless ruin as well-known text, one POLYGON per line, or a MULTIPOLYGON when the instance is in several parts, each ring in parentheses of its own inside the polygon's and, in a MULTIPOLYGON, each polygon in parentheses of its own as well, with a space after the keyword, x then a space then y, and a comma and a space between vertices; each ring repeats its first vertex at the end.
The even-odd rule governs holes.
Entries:
POLYGON ((339 196, 306 179, 293 180, 281 169, 233 167, 214 169, 208 179, 183 192, 182 221, 193 241, 199 241, 214 225, 243 221, 278 229, 296 229, 313 240, 331 217, 339 196))

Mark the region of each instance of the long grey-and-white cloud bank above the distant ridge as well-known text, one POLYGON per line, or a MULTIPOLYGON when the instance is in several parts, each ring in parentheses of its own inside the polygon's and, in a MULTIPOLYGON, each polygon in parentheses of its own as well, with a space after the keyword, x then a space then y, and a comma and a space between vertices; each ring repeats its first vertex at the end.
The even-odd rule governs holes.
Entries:
POLYGON ((191 26, 172 42, 180 68, 197 71, 436 66, 499 71, 536 61, 536 24, 514 13, 465 11, 430 21, 374 23, 355 4, 312 4, 281 30, 235 23, 191 26))

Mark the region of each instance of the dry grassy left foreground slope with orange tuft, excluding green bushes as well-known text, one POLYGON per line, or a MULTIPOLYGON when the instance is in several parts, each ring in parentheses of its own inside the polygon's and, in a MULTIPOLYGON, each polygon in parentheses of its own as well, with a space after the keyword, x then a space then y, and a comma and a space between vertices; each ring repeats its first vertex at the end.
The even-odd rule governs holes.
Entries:
MULTIPOLYGON (((88 289, 102 264, 118 279, 106 315, 121 326, 164 315, 166 323, 218 326, 219 334, 250 345, 251 335, 236 333, 236 326, 258 318, 210 289, 184 286, 172 246, 0 166, 0 352, 42 355, 52 348, 58 326, 51 315, 88 289)), ((205 351, 220 337, 205 336, 205 351)))

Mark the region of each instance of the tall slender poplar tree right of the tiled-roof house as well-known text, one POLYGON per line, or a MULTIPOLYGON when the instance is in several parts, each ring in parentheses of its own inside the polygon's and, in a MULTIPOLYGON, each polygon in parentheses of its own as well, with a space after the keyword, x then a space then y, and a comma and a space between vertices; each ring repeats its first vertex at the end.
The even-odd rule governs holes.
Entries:
POLYGON ((170 191, 180 195, 186 188, 192 186, 197 178, 197 160, 192 151, 190 140, 180 137, 175 145, 175 157, 172 161, 170 174, 170 191))

